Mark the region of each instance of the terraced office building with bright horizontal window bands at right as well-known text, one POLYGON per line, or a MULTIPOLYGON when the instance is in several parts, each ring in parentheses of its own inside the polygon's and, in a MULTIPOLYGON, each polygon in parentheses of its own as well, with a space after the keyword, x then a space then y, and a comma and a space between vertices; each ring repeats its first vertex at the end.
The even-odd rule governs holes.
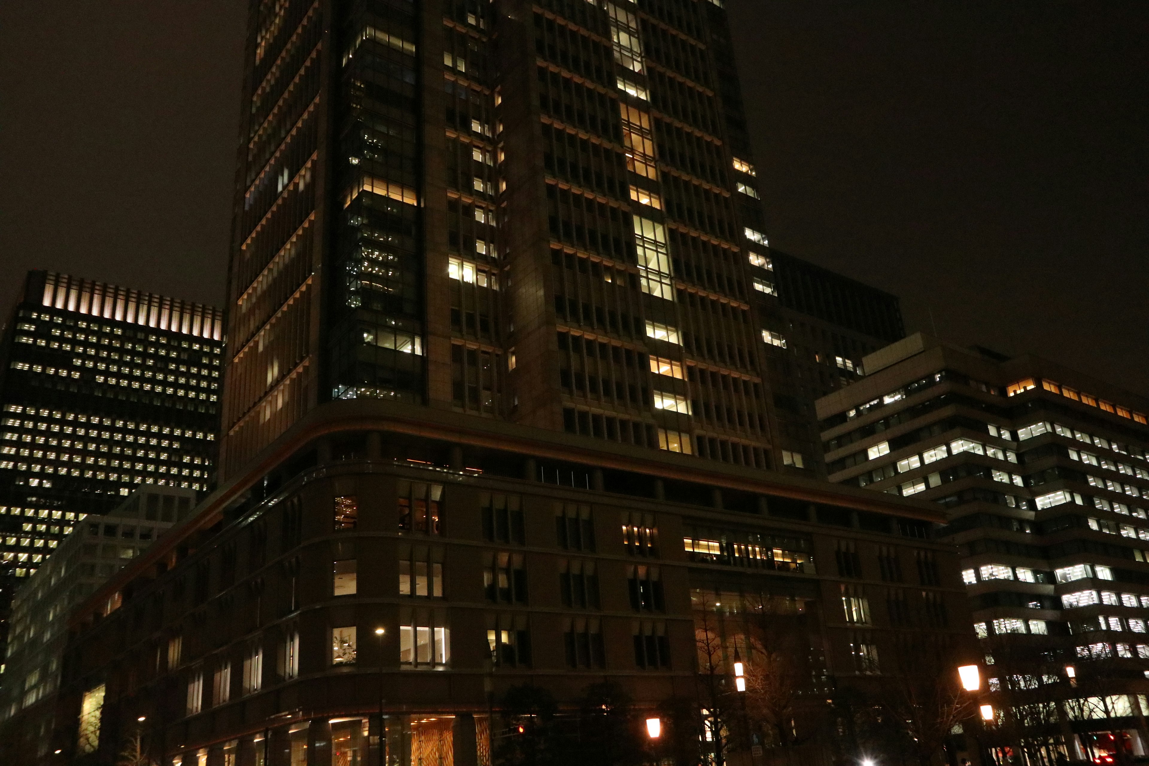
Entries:
POLYGON ((920 333, 863 364, 818 401, 830 478, 944 508, 1009 730, 1070 758, 1141 752, 1149 400, 920 333))

